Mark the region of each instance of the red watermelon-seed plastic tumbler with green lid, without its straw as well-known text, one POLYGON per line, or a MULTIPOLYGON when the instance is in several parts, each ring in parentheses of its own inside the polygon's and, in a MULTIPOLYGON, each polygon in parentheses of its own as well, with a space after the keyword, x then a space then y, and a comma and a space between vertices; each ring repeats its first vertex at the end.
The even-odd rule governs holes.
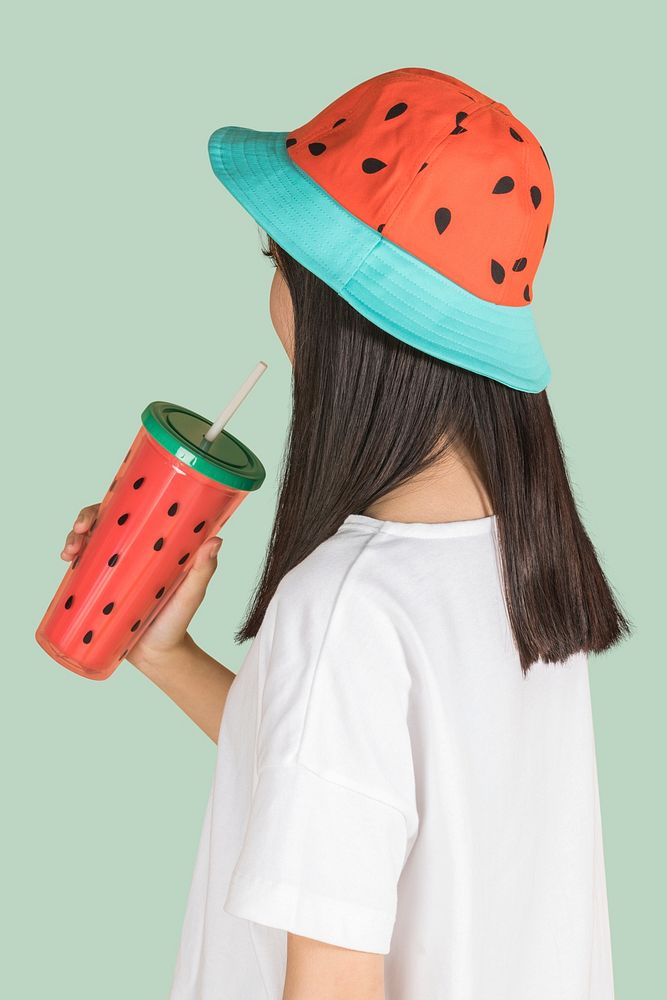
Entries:
POLYGON ((154 402, 68 567, 35 638, 62 666, 104 680, 127 656, 217 534, 266 473, 238 438, 154 402))

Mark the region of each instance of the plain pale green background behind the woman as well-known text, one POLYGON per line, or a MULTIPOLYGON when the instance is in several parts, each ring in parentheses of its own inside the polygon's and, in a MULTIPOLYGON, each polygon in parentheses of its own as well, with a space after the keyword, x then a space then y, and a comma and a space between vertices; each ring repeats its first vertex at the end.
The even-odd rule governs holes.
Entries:
POLYGON ((290 369, 258 227, 215 179, 207 139, 227 124, 291 129, 400 66, 492 94, 551 164, 534 299, 549 398, 636 629, 590 662, 617 998, 661 994, 664 160, 659 33, 642 6, 63 0, 6 19, 2 995, 167 996, 215 746, 128 664, 88 682, 33 632, 64 535, 146 403, 212 417, 261 359, 229 427, 267 481, 223 531, 193 627, 240 666, 232 633, 271 529, 290 369))

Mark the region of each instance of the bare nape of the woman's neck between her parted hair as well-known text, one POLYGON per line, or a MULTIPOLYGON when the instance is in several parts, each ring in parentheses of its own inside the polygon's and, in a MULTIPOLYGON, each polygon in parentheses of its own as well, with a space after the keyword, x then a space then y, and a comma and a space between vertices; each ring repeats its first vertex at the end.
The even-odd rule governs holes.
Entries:
POLYGON ((451 449, 362 513, 381 521, 468 521, 494 513, 473 462, 451 449))

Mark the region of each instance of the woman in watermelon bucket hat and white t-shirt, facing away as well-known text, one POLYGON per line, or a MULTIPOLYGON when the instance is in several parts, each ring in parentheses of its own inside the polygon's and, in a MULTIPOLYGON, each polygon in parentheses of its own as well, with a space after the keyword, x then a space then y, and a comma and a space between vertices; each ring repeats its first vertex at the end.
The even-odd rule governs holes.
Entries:
POLYGON ((629 625, 530 310, 544 151, 420 68, 209 151, 293 414, 239 673, 187 632, 219 539, 130 655, 218 743, 172 1000, 611 1000, 587 654, 629 625))

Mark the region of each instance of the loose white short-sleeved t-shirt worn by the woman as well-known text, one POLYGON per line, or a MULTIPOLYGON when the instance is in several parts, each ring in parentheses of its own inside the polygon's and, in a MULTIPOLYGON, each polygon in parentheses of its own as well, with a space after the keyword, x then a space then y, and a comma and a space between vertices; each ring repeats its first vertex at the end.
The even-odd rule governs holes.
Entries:
POLYGON ((587 659, 523 676, 497 544, 352 514, 283 577, 170 1000, 281 1000, 287 931, 383 954, 386 1000, 612 1000, 587 659))

